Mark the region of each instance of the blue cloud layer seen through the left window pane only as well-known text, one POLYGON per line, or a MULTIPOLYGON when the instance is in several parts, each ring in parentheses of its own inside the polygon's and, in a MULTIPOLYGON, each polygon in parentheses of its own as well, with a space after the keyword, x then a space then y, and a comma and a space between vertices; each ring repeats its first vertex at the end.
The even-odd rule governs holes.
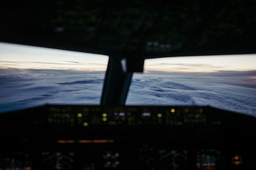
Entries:
POLYGON ((0 70, 0 112, 42 104, 99 104, 104 72, 0 70))

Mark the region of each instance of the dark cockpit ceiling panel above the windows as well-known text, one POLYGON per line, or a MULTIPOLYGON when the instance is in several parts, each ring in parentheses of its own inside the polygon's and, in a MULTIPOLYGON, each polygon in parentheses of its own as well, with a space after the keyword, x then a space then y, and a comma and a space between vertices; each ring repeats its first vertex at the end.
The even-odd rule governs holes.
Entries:
POLYGON ((256 1, 6 1, 0 41, 145 58, 256 53, 256 1))

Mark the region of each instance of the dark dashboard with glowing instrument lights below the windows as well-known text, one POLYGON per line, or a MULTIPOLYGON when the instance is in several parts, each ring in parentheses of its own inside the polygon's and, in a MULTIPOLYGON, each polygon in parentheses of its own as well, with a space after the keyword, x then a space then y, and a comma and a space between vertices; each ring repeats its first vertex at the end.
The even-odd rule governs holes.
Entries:
POLYGON ((0 169, 256 167, 255 118, 211 107, 45 105, 0 123, 0 169))

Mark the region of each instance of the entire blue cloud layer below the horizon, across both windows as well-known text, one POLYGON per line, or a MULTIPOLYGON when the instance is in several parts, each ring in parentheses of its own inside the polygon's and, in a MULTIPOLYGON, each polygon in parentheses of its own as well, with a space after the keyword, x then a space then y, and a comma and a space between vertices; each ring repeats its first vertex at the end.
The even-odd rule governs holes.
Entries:
MULTIPOLYGON (((255 71, 134 74, 127 104, 210 105, 255 115, 255 71)), ((0 112, 45 103, 99 104, 104 72, 0 69, 0 112)))

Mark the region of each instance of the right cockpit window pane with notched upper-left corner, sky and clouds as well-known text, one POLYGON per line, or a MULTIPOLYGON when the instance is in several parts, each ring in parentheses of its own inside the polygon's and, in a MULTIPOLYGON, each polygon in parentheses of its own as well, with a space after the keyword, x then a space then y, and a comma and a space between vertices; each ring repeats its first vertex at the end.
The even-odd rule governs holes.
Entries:
POLYGON ((213 106, 255 115, 256 55, 148 59, 128 105, 213 106))

